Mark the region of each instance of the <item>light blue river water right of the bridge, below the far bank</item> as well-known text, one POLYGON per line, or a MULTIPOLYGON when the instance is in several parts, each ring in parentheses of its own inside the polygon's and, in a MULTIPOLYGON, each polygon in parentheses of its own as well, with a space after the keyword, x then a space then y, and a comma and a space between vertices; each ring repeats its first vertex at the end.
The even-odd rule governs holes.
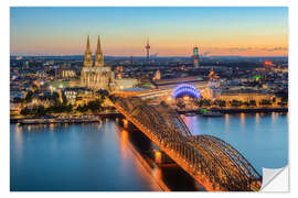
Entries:
POLYGON ((211 123, 198 116, 198 119, 191 119, 187 125, 193 135, 210 134, 226 141, 262 173, 263 167, 280 168, 288 163, 286 114, 225 114, 222 118, 210 118, 207 121, 211 123), (225 128, 225 131, 219 130, 221 125, 225 128))

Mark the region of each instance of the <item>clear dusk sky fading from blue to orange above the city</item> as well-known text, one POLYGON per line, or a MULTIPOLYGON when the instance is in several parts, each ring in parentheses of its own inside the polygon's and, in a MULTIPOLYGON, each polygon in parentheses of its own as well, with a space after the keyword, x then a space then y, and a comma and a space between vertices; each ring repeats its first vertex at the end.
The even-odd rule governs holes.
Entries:
POLYGON ((11 55, 287 56, 287 8, 11 8, 11 55))

